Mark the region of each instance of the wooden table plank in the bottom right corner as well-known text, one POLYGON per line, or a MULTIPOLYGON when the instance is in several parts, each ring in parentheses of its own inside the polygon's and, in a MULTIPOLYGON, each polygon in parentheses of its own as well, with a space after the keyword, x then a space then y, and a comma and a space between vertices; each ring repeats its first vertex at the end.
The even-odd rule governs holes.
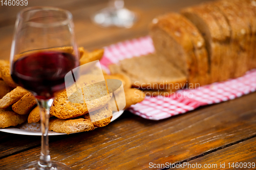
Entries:
MULTIPOLYGON (((184 164, 182 164, 182 167, 183 167, 182 169, 191 169, 193 167, 196 167, 196 163, 200 164, 202 167, 204 166, 211 167, 210 169, 233 169, 233 168, 255 169, 256 168, 255 145, 256 145, 256 137, 231 145, 230 147, 224 148, 214 153, 210 153, 203 157, 188 161, 185 163, 185 166, 184 164), (243 163, 243 165, 240 164, 239 166, 239 163, 241 162, 243 163), (190 165, 188 165, 188 163, 190 165), (232 166, 232 163, 234 163, 233 164, 234 166, 232 166), (236 166, 236 163, 237 163, 237 166, 236 166)), ((202 169, 202 168, 199 168, 200 165, 198 165, 198 168, 193 168, 193 169, 202 169)), ((179 168, 172 168, 172 169, 179 169, 179 168)))

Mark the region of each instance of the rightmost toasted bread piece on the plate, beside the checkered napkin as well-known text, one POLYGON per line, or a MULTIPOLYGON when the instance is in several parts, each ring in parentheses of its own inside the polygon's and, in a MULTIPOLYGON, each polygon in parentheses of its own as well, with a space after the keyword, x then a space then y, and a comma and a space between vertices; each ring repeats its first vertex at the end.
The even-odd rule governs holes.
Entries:
POLYGON ((136 103, 142 102, 145 99, 145 93, 136 88, 126 89, 124 93, 126 101, 126 106, 124 109, 127 109, 136 103))

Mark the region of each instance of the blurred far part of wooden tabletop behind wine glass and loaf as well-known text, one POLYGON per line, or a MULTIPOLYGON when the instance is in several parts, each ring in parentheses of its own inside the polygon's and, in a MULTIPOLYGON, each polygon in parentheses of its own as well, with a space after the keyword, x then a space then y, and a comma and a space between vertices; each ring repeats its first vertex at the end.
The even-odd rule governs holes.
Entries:
MULTIPOLYGON (((35 0, 29 1, 30 6, 44 5, 44 6, 54 6, 63 9, 70 10, 74 17, 75 34, 79 46, 84 46, 88 50, 93 50, 94 48, 100 48, 102 46, 110 45, 119 41, 124 41, 126 39, 132 39, 136 37, 141 37, 148 35, 148 24, 151 20, 165 12, 176 11, 178 12, 181 8, 199 4, 208 0, 181 0, 181 1, 154 1, 154 0, 130 0, 125 1, 125 7, 137 12, 140 16, 138 22, 131 29, 122 28, 101 28, 94 23, 92 23, 90 17, 92 14, 98 10, 106 7, 108 1, 41 1, 35 0), (72 2, 72 3, 71 3, 72 2)), ((0 19, 0 59, 9 59, 11 42, 14 31, 14 22, 16 13, 25 7, 3 7, 5 9, 3 12, 0 10, 0 18, 7 18, 1 22, 0 19), (2 16, 2 17, 1 17, 2 16), (8 19, 9 18, 9 19, 8 19), (11 22, 11 23, 9 23, 11 22), (2 23, 2 25, 1 25, 2 23), (5 26, 5 27, 4 27, 5 26)))

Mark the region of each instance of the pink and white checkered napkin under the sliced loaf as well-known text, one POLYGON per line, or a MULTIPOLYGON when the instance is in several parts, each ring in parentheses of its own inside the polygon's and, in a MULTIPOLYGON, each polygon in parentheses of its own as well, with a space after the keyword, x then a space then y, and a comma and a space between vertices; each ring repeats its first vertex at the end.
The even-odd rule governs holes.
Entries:
MULTIPOLYGON (((150 36, 119 42, 104 48, 105 53, 100 63, 106 71, 109 71, 109 64, 155 51, 150 36)), ((146 119, 160 120, 194 110, 199 106, 239 98, 255 90, 256 70, 254 69, 237 79, 213 83, 197 89, 179 90, 168 97, 147 96, 141 103, 131 106, 129 111, 146 119)))

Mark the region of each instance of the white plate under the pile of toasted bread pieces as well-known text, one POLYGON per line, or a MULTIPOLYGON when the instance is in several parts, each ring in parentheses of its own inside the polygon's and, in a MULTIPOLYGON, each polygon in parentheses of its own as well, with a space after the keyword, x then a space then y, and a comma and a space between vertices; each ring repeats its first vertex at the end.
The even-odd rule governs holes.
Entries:
MULTIPOLYGON (((119 112, 113 113, 113 117, 111 119, 111 122, 113 122, 115 119, 117 119, 121 114, 123 113, 123 110, 119 112)), ((14 134, 20 134, 20 135, 34 135, 34 136, 41 136, 41 128, 40 123, 26 123, 21 126, 15 127, 15 128, 5 128, 0 129, 2 132, 8 132, 8 133, 14 133, 14 134)), ((56 133, 49 131, 48 135, 67 135, 66 133, 56 133)))

